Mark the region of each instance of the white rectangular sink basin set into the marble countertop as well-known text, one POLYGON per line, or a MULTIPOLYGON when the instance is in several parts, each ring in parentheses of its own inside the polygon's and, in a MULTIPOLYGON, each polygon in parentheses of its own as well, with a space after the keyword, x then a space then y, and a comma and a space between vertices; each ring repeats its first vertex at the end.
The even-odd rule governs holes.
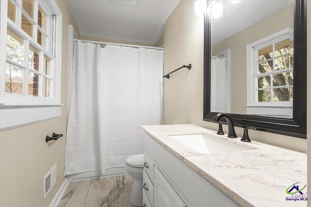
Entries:
POLYGON ((169 136, 206 155, 256 149, 253 147, 242 146, 237 143, 218 139, 208 134, 181 134, 169 136))

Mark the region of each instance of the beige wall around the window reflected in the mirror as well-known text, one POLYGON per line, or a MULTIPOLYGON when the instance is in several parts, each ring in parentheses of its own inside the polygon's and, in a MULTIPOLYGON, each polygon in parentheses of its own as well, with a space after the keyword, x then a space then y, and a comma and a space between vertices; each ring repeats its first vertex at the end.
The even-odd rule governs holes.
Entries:
POLYGON ((231 49, 231 113, 246 113, 246 45, 287 27, 294 27, 294 5, 284 7, 212 47, 212 55, 231 49))

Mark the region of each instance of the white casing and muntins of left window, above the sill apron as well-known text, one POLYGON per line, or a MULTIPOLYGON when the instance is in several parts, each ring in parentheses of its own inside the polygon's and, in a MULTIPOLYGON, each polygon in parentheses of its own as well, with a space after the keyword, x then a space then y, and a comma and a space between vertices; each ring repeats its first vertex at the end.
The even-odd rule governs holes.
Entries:
MULTIPOLYGON (((6 4, 4 5, 4 3, 1 4, 4 5, 2 7, 2 9, 4 10, 7 9, 7 1, 6 4)), ((19 2, 20 3, 20 2, 19 2)), ((35 1, 35 8, 38 8, 38 2, 35 1)), ((57 15, 56 16, 56 20, 55 20, 55 38, 57 40, 57 42, 55 43, 56 45, 56 54, 55 57, 53 54, 50 55, 50 51, 48 51, 46 48, 43 48, 41 45, 39 45, 36 41, 36 38, 30 37, 26 32, 24 32, 21 28, 20 28, 20 24, 15 24, 13 21, 11 21, 10 19, 7 18, 6 14, 7 12, 5 11, 1 11, 1 21, 3 21, 4 23, 6 23, 14 32, 16 32, 19 36, 21 36, 23 39, 25 39, 24 41, 24 63, 23 63, 23 67, 24 68, 24 83, 23 83, 23 95, 22 96, 16 96, 15 94, 9 94, 9 93, 5 93, 4 88, 5 88, 5 69, 3 70, 3 68, 5 68, 5 64, 6 61, 2 58, 5 57, 5 55, 1 55, 1 83, 3 82, 3 89, 1 91, 0 94, 0 98, 1 98, 1 102, 5 103, 5 104, 13 104, 13 103, 25 103, 25 105, 27 104, 35 104, 35 103, 40 103, 40 104, 60 104, 60 93, 61 93, 61 44, 62 44, 62 33, 61 33, 61 29, 62 29, 62 14, 61 11, 59 10, 56 2, 54 0, 50 0, 50 1, 40 1, 39 2, 41 9, 47 14, 47 19, 50 18, 49 16, 51 15, 57 15), (49 11, 49 12, 47 12, 49 11), (41 81, 39 81, 39 96, 38 97, 32 97, 32 96, 28 96, 28 70, 31 70, 28 67, 28 62, 27 62, 27 57, 28 55, 28 45, 29 43, 31 43, 31 45, 40 50, 40 71, 39 72, 35 72, 36 74, 39 75, 39 79, 41 81), (44 56, 48 57, 51 60, 51 76, 45 76, 42 74, 42 70, 43 70, 43 54, 44 56), (3 57, 2 57, 3 56, 3 57), (49 98, 45 98, 42 97, 42 80, 43 78, 47 78, 50 81, 50 97, 49 98)), ((19 7, 17 7, 19 8, 19 7)), ((21 8, 21 7, 20 7, 21 8)), ((17 16, 20 16, 22 11, 17 11, 18 14, 17 16)), ((35 13, 36 15, 36 13, 35 13)), ((31 20, 33 20, 32 22, 34 24, 37 24, 37 19, 36 16, 34 16, 34 18, 31 18, 30 16, 27 16, 27 14, 25 14, 25 16, 27 18, 30 18, 31 20)), ((49 30, 49 22, 47 22, 47 31, 49 30)), ((1 42, 1 53, 3 52, 5 54, 5 48, 6 48, 6 26, 2 26, 1 24, 1 41, 3 41, 3 43, 1 42), (2 32, 3 31, 3 32, 2 32), (3 33, 3 36, 2 36, 3 33), (2 47, 3 46, 3 47, 2 47)), ((36 31, 33 31, 36 33, 36 31)), ((44 35, 44 34, 42 34, 44 35)), ((48 36, 47 38, 51 39, 50 36, 48 36)), ((7 62, 11 62, 11 61, 7 61, 7 62)), ((16 65, 16 64, 15 64, 16 65)), ((19 65, 21 66, 21 65, 19 65)), ((2 86, 2 85, 1 85, 2 86)), ((2 87, 1 87, 2 88, 2 87)))

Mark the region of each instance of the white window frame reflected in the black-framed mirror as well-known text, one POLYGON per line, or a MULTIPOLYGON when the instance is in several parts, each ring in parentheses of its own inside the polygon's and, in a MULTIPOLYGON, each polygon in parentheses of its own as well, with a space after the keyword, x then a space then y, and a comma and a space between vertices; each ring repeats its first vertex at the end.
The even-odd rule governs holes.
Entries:
MULTIPOLYGON (((256 99, 256 84, 257 84, 257 60, 258 50, 280 42, 285 39, 294 39, 294 30, 285 28, 275 32, 262 39, 259 39, 246 46, 247 54, 247 105, 246 114, 258 114, 265 116, 278 117, 293 117, 293 102, 258 102, 256 99), (264 111, 264 112, 263 112, 264 111)), ((293 69, 284 70, 284 72, 293 71, 293 69)))

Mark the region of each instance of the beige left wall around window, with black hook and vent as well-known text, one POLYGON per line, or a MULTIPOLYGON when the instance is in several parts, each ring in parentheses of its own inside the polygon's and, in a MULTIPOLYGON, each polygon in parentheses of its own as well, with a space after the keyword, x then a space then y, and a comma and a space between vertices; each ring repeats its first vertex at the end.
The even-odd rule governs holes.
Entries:
POLYGON ((63 14, 61 117, 0 132, 0 206, 48 207, 64 182, 67 125, 68 28, 73 24, 67 1, 56 1, 63 14), (45 142, 46 135, 62 133, 57 142, 45 142), (57 163, 57 181, 43 200, 43 176, 57 163))

